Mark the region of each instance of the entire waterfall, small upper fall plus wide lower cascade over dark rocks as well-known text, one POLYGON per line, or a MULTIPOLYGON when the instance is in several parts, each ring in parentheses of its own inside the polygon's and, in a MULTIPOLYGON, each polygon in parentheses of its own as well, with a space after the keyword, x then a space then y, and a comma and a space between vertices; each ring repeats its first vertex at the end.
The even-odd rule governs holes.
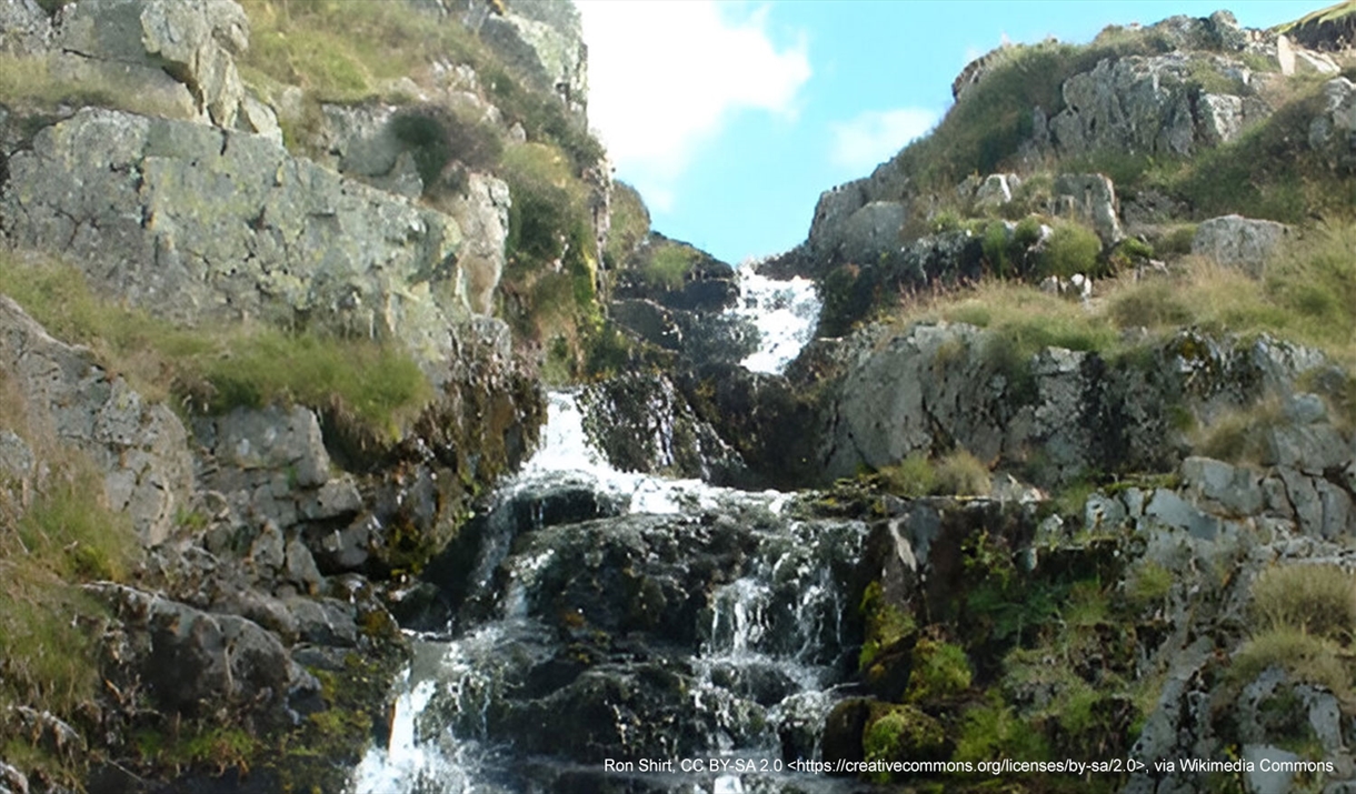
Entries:
MULTIPOLYGON (((746 287, 739 310, 763 328, 750 363, 780 369, 804 341, 785 335, 812 331, 785 317, 812 325, 812 293, 746 287)), ((852 668, 865 527, 788 501, 617 472, 575 396, 552 394, 541 450, 465 530, 454 619, 415 637, 354 794, 858 790, 786 761, 818 759, 852 668)))

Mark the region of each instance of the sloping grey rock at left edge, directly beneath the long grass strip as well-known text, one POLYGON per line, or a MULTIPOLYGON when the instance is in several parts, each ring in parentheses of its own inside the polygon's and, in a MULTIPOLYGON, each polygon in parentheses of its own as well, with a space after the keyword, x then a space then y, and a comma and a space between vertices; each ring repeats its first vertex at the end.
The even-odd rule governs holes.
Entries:
POLYGON ((179 417, 142 401, 87 350, 49 336, 7 297, 0 297, 0 370, 15 375, 39 427, 50 427, 103 469, 110 507, 127 511, 142 542, 164 541, 191 484, 179 417))

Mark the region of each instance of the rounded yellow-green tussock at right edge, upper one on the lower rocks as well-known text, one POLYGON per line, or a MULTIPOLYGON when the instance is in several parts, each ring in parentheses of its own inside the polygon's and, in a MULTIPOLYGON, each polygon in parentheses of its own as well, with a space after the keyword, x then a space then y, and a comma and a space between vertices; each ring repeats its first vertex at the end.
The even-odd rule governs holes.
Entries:
POLYGON ((1356 576, 1337 565, 1268 568, 1253 581, 1252 614, 1265 629, 1349 642, 1356 633, 1356 576))

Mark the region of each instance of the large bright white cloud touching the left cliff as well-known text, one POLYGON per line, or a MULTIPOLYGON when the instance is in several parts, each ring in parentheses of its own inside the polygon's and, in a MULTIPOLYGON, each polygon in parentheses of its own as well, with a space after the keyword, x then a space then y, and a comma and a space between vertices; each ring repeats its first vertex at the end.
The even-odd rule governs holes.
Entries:
POLYGON ((734 112, 795 117, 810 79, 805 43, 778 49, 766 7, 736 19, 717 0, 578 5, 589 43, 589 122, 656 206, 671 205, 698 146, 734 112))

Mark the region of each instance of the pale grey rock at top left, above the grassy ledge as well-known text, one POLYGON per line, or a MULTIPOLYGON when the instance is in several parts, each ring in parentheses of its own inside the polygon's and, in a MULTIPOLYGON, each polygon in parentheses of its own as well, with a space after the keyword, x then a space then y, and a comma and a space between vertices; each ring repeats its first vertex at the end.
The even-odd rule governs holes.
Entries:
POLYGON ((250 19, 235 0, 84 0, 62 11, 54 43, 170 72, 221 127, 235 126, 245 99, 233 53, 250 46, 250 19))

